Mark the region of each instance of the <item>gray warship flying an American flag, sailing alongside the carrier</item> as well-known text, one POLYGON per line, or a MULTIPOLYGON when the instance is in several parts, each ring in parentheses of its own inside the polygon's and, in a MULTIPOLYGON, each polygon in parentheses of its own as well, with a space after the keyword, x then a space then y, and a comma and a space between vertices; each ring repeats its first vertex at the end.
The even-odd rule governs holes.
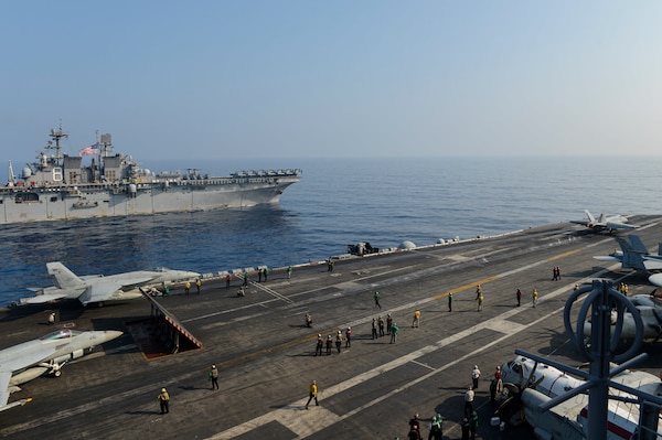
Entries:
POLYGON ((301 170, 252 170, 213 178, 197 170, 153 173, 115 153, 110 135, 97 133, 79 155, 62 153, 68 133, 51 129, 46 150, 19 176, 9 162, 0 187, 0 224, 247 207, 278 203, 301 170), (82 167, 83 155, 93 155, 82 167))

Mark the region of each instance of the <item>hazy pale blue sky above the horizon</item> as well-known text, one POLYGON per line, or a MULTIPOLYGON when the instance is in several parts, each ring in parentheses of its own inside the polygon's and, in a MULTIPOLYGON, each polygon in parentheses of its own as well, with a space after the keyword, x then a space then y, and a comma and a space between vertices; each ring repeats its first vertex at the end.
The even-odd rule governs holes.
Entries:
POLYGON ((0 163, 660 154, 660 1, 0 0, 0 163))

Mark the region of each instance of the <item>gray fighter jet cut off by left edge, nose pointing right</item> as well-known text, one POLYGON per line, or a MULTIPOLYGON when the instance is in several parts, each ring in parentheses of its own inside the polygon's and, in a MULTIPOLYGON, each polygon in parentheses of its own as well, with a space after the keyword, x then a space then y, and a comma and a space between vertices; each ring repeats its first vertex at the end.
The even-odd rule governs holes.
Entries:
POLYGON ((20 391, 19 385, 44 374, 58 377, 71 359, 92 352, 95 345, 113 341, 122 332, 57 330, 39 340, 28 341, 0 351, 0 411, 25 405, 31 399, 8 404, 9 395, 20 391))

